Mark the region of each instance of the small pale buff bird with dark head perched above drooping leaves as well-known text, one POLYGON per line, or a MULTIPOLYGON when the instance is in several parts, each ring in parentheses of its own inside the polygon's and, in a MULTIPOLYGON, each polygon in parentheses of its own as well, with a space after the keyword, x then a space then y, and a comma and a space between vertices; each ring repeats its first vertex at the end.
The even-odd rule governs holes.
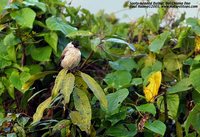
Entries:
POLYGON ((72 44, 72 42, 70 42, 63 50, 61 57, 61 67, 70 70, 78 66, 80 63, 81 52, 72 44))

